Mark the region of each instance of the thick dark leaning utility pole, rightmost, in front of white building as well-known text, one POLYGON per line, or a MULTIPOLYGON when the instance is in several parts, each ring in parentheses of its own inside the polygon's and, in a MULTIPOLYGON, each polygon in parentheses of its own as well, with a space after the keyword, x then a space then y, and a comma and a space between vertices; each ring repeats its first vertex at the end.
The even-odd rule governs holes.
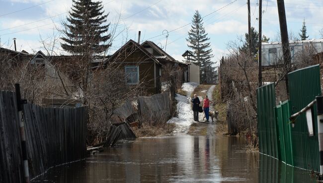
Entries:
POLYGON ((284 66, 285 66, 285 80, 286 80, 286 91, 288 91, 288 77, 287 73, 291 70, 292 58, 289 50, 289 40, 287 32, 287 23, 286 23, 286 14, 285 14, 285 3, 284 0, 277 0, 278 7, 278 17, 279 17, 279 26, 280 26, 280 36, 283 48, 283 57, 284 57, 284 66))

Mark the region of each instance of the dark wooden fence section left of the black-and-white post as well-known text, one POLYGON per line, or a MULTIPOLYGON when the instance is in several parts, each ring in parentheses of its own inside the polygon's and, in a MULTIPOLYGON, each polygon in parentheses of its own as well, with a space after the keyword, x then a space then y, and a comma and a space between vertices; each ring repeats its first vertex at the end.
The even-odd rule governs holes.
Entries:
POLYGON ((0 183, 23 180, 19 118, 14 92, 0 91, 0 183))

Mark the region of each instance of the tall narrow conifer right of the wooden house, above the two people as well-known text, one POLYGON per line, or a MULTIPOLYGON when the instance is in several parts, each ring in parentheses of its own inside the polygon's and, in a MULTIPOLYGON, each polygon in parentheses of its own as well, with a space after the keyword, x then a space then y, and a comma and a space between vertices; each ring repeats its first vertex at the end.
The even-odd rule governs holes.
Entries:
POLYGON ((188 31, 188 42, 187 46, 191 48, 195 54, 195 58, 191 60, 195 63, 198 63, 200 66, 200 82, 207 83, 207 76, 212 75, 210 73, 210 67, 212 67, 211 54, 212 49, 210 48, 210 38, 207 37, 205 29, 203 27, 203 18, 198 10, 195 11, 195 14, 192 19, 191 29, 188 31))

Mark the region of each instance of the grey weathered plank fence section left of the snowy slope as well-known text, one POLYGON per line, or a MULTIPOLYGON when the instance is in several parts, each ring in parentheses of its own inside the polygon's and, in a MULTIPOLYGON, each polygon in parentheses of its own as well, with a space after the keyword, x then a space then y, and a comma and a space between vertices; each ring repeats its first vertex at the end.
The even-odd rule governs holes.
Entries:
POLYGON ((169 93, 138 97, 138 112, 142 122, 167 121, 170 117, 169 93))

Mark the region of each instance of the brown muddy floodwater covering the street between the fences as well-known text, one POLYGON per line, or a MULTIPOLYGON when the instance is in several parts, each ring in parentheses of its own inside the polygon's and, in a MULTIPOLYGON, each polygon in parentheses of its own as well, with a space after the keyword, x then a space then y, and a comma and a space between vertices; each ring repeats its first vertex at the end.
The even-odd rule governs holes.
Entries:
POLYGON ((311 172, 259 153, 237 137, 180 135, 120 142, 50 169, 32 183, 315 183, 311 172))

